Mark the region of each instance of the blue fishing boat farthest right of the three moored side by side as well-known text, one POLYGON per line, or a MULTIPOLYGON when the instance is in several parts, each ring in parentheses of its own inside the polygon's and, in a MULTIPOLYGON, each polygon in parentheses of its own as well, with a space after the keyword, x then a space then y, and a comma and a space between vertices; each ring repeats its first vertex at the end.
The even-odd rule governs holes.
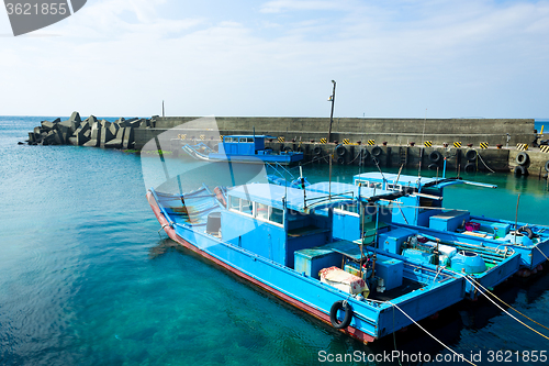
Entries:
POLYGON ((526 270, 523 273, 540 269, 549 256, 548 226, 472 215, 469 211, 446 209, 442 206, 445 187, 473 185, 495 188, 493 185, 459 178, 422 178, 381 173, 357 175, 354 184, 403 193, 391 206, 393 224, 429 228, 437 235, 450 235, 455 242, 469 242, 477 237, 486 247, 512 248, 520 254, 520 267, 526 270))

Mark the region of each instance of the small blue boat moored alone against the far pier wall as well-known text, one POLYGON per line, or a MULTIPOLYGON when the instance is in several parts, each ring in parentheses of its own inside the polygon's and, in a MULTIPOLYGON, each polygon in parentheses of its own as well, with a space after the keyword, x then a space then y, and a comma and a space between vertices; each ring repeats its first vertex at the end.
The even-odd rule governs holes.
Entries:
POLYGON ((277 137, 268 135, 227 135, 223 136, 223 141, 217 144, 217 151, 204 143, 187 144, 182 149, 190 156, 206 162, 289 165, 303 159, 302 152, 287 149, 279 154, 273 153, 272 148, 265 146, 266 138, 277 137))

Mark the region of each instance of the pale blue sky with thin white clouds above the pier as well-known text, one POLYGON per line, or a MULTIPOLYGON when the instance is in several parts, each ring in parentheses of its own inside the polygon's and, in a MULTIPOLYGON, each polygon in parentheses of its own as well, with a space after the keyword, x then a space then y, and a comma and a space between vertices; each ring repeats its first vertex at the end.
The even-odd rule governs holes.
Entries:
POLYGON ((88 0, 0 49, 3 115, 549 118, 549 1, 88 0))

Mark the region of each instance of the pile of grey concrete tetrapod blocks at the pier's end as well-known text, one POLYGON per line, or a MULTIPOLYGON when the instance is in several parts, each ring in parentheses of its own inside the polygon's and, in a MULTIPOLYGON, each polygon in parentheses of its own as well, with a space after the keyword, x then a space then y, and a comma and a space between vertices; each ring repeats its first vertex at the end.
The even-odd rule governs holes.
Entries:
POLYGON ((134 130, 150 126, 147 119, 124 119, 115 122, 99 121, 94 115, 81 120, 74 112, 66 121, 42 121, 29 132, 30 145, 76 145, 131 149, 135 146, 134 130))

